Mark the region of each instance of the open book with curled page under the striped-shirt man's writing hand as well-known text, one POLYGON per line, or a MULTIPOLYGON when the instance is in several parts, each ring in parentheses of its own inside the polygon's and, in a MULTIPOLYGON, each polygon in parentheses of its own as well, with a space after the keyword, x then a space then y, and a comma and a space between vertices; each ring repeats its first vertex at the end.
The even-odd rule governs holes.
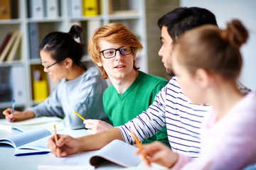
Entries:
POLYGON ((124 167, 137 166, 140 162, 136 155, 137 147, 121 140, 113 140, 102 149, 80 152, 68 157, 50 157, 38 165, 38 169, 95 169, 102 162, 112 162, 124 167))

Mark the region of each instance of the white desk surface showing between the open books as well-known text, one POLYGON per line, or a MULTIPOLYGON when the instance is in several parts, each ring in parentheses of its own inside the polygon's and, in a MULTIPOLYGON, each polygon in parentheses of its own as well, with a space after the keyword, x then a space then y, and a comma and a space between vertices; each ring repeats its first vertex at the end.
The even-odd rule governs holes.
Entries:
MULTIPOLYGON (((3 120, 0 120, 3 121, 3 120)), ((79 137, 83 135, 88 135, 86 130, 60 130, 57 131, 59 134, 68 134, 73 137, 79 137)), ((10 135, 14 135, 16 133, 20 133, 20 131, 4 128, 0 126, 0 138, 6 137, 10 135)), ((18 170, 18 169, 26 169, 26 170, 35 170, 38 169, 38 164, 44 162, 51 155, 49 154, 38 154, 38 155, 30 155, 30 156, 14 156, 14 147, 9 145, 1 145, 0 146, 0 169, 1 170, 18 170)), ((119 166, 117 164, 105 164, 104 166, 100 166, 97 169, 124 169, 124 167, 119 166)))

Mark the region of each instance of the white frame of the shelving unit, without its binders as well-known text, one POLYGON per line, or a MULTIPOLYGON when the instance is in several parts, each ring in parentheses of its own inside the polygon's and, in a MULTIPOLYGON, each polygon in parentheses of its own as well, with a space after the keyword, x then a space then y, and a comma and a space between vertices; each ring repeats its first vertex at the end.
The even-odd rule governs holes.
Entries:
MULTIPOLYGON (((46 0, 44 0, 46 1, 46 0)), ((21 80, 20 84, 23 84, 25 89, 21 91, 23 100, 16 104, 16 107, 27 108, 33 106, 36 102, 33 101, 33 90, 32 90, 32 77, 31 68, 35 65, 40 65, 40 59, 31 59, 30 45, 29 45, 29 23, 38 23, 38 34, 39 42, 43 39, 46 34, 53 31, 68 32, 72 23, 80 23, 83 29, 83 38, 85 45, 88 44, 90 33, 92 30, 89 29, 90 23, 97 22, 100 26, 104 26, 107 23, 123 23, 133 33, 138 35, 139 39, 144 45, 144 50, 137 55, 137 66, 142 71, 148 72, 147 68, 147 53, 146 53, 146 17, 145 17, 145 0, 100 0, 100 14, 97 16, 82 16, 73 18, 70 16, 69 3, 71 0, 58 0, 59 16, 58 18, 42 18, 35 19, 31 18, 29 11, 30 0, 12 0, 11 6, 16 6, 18 11, 17 17, 10 20, 0 20, 0 41, 4 39, 7 33, 13 32, 14 30, 20 30, 22 33, 22 40, 20 47, 16 53, 14 61, 11 63, 3 62, 0 64, 0 72, 4 68, 22 67, 23 77, 18 77, 21 80), (110 7, 114 13, 110 12, 110 7), (119 13, 117 13, 119 11, 119 13), (120 11, 122 13, 120 13, 120 11), (135 12, 134 12, 135 11, 135 12), (115 13, 116 12, 116 13, 115 13)), ((82 1, 82 0, 81 0, 82 1)), ((38 42, 38 43, 39 43, 38 42)), ((89 64, 90 57, 86 49, 86 55, 83 60, 89 64)), ((42 67, 43 69, 43 67, 42 67)), ((10 79, 17 79, 17 77, 10 77, 10 79)), ((48 79, 50 81, 50 79, 48 79)), ((1 76, 0 76, 1 84, 1 76)), ((17 85, 18 86, 18 85, 17 85)), ((14 87, 10 87, 13 92, 14 87)), ((0 86, 0 91, 1 89, 0 86)), ((0 96, 1 98, 1 96, 0 96)), ((11 101, 13 96, 9 100, 1 100, 0 108, 4 109, 11 107, 11 101)))

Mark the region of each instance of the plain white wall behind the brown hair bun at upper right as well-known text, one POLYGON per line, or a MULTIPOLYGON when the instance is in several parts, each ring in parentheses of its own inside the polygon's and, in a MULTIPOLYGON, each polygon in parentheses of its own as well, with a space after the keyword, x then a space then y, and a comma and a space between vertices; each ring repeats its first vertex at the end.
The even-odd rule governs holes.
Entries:
POLYGON ((253 91, 256 90, 256 1, 255 0, 180 0, 180 6, 207 8, 216 16, 218 26, 238 18, 249 30, 249 39, 242 46, 243 57, 240 81, 253 91))

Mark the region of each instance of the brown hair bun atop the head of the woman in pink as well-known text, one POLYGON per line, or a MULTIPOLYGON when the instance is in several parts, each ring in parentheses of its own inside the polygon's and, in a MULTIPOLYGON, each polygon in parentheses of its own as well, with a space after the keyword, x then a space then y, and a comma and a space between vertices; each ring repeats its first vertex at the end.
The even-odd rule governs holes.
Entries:
POLYGON ((227 39, 235 47, 240 47, 246 42, 248 32, 242 23, 238 20, 233 20, 227 24, 227 28, 220 33, 223 39, 227 39))

